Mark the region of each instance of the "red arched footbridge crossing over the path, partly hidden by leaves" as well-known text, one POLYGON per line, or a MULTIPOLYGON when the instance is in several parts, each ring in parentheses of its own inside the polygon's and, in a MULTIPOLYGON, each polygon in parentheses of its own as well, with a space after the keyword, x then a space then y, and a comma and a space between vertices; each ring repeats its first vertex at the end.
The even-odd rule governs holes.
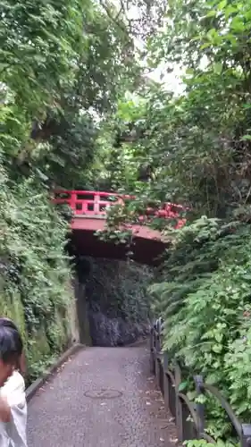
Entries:
MULTIPOLYGON (((110 257, 123 259, 127 255, 124 244, 103 241, 96 236, 97 231, 105 230, 107 208, 124 204, 130 196, 121 196, 113 192, 96 192, 84 190, 57 190, 54 193, 55 204, 68 204, 73 211, 71 221, 71 252, 75 255, 91 257, 110 257)), ((168 240, 163 240, 159 231, 147 226, 152 217, 176 220, 175 228, 186 223, 180 219, 180 205, 165 203, 160 208, 146 208, 146 214, 139 216, 138 223, 130 225, 133 238, 133 259, 142 264, 156 266, 159 257, 167 248, 168 240)), ((126 225, 129 229, 129 225, 126 225)))

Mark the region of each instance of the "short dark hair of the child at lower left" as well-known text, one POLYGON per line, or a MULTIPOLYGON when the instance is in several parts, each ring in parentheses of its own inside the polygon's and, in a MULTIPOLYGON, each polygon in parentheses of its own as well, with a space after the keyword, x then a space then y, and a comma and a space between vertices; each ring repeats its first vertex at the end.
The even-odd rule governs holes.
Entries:
POLYGON ((9 318, 0 317, 0 358, 19 365, 22 353, 21 334, 9 318))

